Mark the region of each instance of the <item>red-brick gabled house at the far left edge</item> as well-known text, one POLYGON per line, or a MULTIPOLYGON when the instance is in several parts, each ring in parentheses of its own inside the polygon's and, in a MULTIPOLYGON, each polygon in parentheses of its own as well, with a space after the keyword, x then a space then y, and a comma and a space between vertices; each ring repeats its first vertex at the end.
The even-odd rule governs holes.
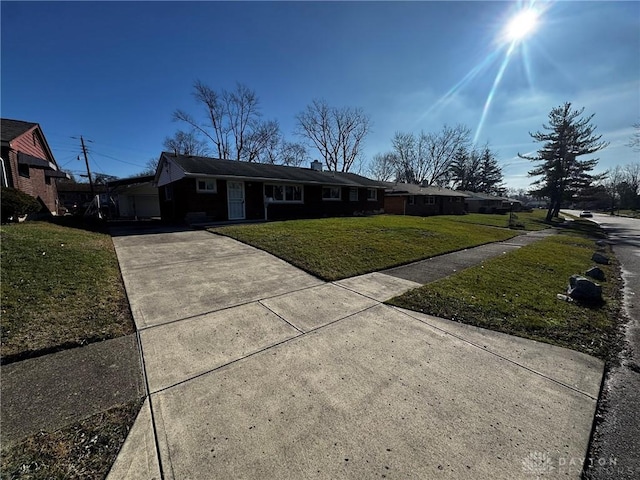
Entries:
POLYGON ((51 213, 58 213, 56 180, 69 178, 60 171, 40 125, 0 119, 2 186, 37 198, 51 213))

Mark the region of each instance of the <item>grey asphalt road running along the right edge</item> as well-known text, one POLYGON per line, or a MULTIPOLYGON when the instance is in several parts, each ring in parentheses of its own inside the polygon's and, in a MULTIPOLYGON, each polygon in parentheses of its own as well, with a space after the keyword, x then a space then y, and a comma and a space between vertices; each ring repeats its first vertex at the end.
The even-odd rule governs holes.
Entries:
POLYGON ((640 478, 640 220, 594 214, 593 221, 607 231, 622 264, 628 345, 622 365, 605 380, 600 399, 604 417, 594 434, 587 478, 636 479, 640 478))

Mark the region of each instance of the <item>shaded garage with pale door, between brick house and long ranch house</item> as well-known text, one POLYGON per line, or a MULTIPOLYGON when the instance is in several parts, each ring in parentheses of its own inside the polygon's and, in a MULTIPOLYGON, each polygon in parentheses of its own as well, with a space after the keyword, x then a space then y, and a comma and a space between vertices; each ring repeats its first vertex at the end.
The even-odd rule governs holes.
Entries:
POLYGON ((116 204, 116 217, 160 217, 158 188, 153 184, 153 178, 153 175, 146 175, 109 182, 109 193, 116 204))

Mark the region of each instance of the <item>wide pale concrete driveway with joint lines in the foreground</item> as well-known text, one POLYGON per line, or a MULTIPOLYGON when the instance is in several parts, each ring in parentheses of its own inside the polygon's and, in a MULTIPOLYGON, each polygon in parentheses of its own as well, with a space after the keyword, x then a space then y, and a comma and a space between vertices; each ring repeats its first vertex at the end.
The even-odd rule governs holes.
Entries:
POLYGON ((116 236, 150 395, 109 478, 579 478, 603 364, 202 231, 116 236))

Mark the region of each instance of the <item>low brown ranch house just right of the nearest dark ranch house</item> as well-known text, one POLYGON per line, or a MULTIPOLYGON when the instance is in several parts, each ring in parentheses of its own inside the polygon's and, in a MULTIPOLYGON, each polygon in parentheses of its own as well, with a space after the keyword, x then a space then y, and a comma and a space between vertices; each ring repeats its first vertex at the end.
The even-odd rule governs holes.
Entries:
POLYGON ((466 195, 440 187, 385 182, 384 211, 396 215, 462 215, 466 195))

